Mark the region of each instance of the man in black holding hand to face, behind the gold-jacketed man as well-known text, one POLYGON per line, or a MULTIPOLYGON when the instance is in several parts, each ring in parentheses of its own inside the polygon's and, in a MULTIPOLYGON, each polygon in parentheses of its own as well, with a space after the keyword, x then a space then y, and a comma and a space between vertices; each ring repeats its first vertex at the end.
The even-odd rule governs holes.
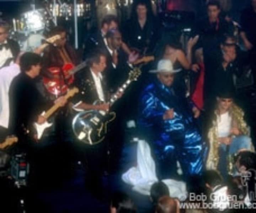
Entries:
POLYGON ((223 36, 218 48, 208 58, 208 76, 204 79, 204 108, 213 106, 219 88, 229 86, 235 91, 234 75, 240 77, 246 55, 236 45, 233 35, 223 36))

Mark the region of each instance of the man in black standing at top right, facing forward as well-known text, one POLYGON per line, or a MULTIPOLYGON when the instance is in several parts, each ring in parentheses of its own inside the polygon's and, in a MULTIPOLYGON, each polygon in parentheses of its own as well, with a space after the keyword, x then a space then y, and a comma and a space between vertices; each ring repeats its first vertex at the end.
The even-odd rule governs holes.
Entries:
POLYGON ((199 35, 197 46, 203 48, 205 65, 204 99, 206 105, 208 105, 208 100, 215 100, 213 94, 215 69, 217 69, 217 65, 219 66, 222 63, 223 59, 220 44, 225 34, 232 34, 232 27, 220 16, 220 12, 219 1, 209 1, 207 3, 207 17, 199 20, 195 29, 195 33, 199 35))

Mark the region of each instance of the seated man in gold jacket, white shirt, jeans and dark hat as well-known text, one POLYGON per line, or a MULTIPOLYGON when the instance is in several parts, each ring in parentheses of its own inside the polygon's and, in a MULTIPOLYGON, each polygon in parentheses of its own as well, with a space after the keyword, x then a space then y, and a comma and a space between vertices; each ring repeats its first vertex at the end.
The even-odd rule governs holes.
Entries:
MULTIPOLYGON (((219 89, 220 90, 220 89, 219 89)), ((232 162, 226 157, 241 150, 252 150, 249 128, 243 119, 244 112, 233 103, 233 91, 222 88, 217 97, 217 106, 209 117, 206 130, 209 141, 207 169, 219 170, 223 178, 232 172, 232 162), (228 170, 227 170, 228 169, 228 170)))

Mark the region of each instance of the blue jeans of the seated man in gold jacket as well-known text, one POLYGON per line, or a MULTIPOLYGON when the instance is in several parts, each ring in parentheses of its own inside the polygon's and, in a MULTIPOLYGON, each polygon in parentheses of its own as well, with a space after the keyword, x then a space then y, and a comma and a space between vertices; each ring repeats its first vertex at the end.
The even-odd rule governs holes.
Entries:
MULTIPOLYGON (((220 174, 223 176, 224 179, 226 179, 226 176, 228 175, 227 171, 227 157, 228 155, 234 155, 237 153, 240 149, 251 149, 251 138, 246 135, 241 135, 238 137, 233 138, 232 142, 229 145, 229 150, 227 151, 227 145, 226 144, 220 144, 219 147, 219 165, 218 169, 220 171, 220 174)), ((233 163, 234 164, 234 163, 233 163)))

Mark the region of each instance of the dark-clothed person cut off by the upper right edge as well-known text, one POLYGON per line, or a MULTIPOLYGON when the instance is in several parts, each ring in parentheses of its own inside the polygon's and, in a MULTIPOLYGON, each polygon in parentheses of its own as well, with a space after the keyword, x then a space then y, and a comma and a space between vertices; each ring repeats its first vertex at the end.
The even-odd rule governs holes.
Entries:
POLYGON ((251 6, 242 11, 241 38, 245 48, 249 51, 250 64, 256 80, 256 0, 251 0, 251 6))

